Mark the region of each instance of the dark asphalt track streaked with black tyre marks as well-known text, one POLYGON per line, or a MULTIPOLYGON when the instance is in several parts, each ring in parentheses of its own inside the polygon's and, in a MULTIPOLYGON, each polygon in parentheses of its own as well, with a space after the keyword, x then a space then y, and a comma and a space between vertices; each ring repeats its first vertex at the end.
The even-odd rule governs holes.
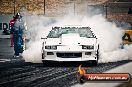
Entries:
MULTIPOLYGON (((12 57, 8 39, 0 39, 0 48, 0 87, 70 87, 78 83, 79 63, 26 63, 22 58, 12 57)), ((88 73, 102 73, 128 62, 131 61, 88 64, 85 69, 88 73)))

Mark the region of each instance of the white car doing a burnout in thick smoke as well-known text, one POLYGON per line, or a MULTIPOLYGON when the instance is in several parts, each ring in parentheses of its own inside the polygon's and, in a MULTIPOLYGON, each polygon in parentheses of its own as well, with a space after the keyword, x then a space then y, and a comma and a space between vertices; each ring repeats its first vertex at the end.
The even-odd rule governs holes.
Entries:
POLYGON ((92 61, 97 65, 99 44, 89 27, 53 27, 42 44, 42 61, 92 61))

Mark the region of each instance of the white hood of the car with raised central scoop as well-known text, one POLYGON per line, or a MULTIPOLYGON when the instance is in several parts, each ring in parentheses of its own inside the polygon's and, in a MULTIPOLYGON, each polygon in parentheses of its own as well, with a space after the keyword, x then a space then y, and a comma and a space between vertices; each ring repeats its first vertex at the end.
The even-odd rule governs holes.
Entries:
POLYGON ((79 34, 63 34, 60 38, 47 38, 46 45, 93 45, 96 38, 80 37, 79 34))

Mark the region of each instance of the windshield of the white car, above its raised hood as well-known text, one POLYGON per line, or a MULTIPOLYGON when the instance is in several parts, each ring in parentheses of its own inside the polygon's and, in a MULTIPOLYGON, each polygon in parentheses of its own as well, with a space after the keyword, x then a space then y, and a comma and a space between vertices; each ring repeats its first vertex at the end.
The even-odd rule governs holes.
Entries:
POLYGON ((92 38, 94 37, 92 31, 89 27, 67 27, 67 28, 55 28, 52 29, 48 35, 48 38, 59 38, 62 36, 62 34, 68 34, 68 33, 78 33, 80 37, 87 37, 92 38))

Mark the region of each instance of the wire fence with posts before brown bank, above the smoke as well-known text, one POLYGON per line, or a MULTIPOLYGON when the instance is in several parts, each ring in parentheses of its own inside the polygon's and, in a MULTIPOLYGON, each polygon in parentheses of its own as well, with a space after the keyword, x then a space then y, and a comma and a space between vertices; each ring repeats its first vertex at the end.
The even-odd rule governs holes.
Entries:
POLYGON ((0 0, 0 14, 15 14, 20 11, 48 17, 66 13, 95 15, 103 14, 118 26, 132 29, 132 2, 105 2, 98 0, 0 0))

